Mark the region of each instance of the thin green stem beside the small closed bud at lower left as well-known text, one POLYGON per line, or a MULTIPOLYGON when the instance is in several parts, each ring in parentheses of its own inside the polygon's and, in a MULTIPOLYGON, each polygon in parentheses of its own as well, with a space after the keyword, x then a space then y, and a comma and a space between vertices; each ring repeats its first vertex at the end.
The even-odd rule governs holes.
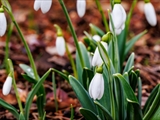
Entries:
POLYGON ((14 77, 14 68, 13 68, 12 61, 10 59, 8 59, 8 65, 9 65, 9 68, 10 68, 11 77, 13 79, 13 88, 14 88, 14 91, 15 91, 15 94, 16 94, 18 106, 19 106, 20 112, 23 114, 24 113, 23 112, 23 107, 22 107, 22 103, 21 103, 21 100, 20 100, 20 97, 19 97, 19 93, 18 93, 18 90, 17 90, 17 85, 16 85, 16 81, 15 81, 15 77, 14 77))

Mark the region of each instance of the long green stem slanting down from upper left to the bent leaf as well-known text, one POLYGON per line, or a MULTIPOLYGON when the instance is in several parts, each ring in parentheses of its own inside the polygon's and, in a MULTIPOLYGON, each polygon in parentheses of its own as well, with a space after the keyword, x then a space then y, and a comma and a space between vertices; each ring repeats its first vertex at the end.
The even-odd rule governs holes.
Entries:
MULTIPOLYGON (((5 8, 6 8, 6 7, 5 7, 5 8)), ((24 44, 24 47, 25 47, 25 49, 26 49, 26 51, 27 51, 27 54, 28 54, 28 58, 29 58, 31 67, 32 67, 33 72, 34 72, 34 76, 35 76, 36 80, 38 80, 38 79, 39 79, 39 76, 38 76, 38 73, 37 73, 37 69, 36 69, 36 66, 35 66, 35 63, 34 63, 34 60, 33 60, 32 54, 31 54, 31 51, 30 51, 30 49, 29 49, 29 47, 28 47, 28 44, 27 44, 26 40, 24 39, 24 35, 23 35, 23 33, 21 32, 19 25, 18 25, 17 22, 15 21, 15 18, 14 18, 14 16, 13 16, 12 12, 9 11, 7 8, 6 8, 6 11, 9 13, 9 15, 10 15, 10 17, 11 17, 11 19, 12 19, 12 22, 14 23, 14 25, 16 26, 16 28, 17 28, 17 30, 18 30, 18 33, 19 33, 19 35, 20 35, 20 37, 21 37, 21 39, 22 39, 22 42, 23 42, 23 44, 24 44)))

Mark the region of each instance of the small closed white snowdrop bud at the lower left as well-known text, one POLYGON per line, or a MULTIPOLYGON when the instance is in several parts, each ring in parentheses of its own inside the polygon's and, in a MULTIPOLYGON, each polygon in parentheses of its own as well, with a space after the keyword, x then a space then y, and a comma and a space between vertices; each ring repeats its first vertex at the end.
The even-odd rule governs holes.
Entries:
POLYGON ((6 81, 3 84, 3 88, 2 88, 3 95, 8 95, 9 92, 11 91, 11 87, 12 87, 12 77, 8 76, 6 81))

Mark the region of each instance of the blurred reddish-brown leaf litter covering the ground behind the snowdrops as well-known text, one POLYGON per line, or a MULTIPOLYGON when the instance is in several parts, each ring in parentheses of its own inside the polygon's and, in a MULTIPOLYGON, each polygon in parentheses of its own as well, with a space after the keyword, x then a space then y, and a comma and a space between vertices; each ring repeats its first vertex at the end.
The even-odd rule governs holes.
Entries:
MULTIPOLYGON (((25 36, 27 43, 33 54, 38 73, 42 76, 49 68, 56 68, 58 70, 68 70, 72 72, 69 59, 67 55, 60 57, 55 50, 56 30, 54 24, 58 24, 64 33, 64 38, 69 44, 73 57, 75 57, 75 46, 73 38, 68 30, 66 18, 63 14, 58 0, 53 0, 51 10, 43 14, 40 10, 34 11, 33 0, 9 0, 11 7, 20 25, 20 28, 25 36), (29 1, 29 2, 28 2, 29 1)), ((93 23, 104 30, 102 19, 97 10, 94 0, 87 0, 87 10, 83 18, 79 18, 76 12, 76 2, 73 0, 64 0, 69 11, 73 26, 77 33, 78 39, 83 41, 83 31, 90 30, 89 24, 93 23)), ((135 52, 135 68, 140 69, 140 76, 142 78, 142 106, 148 98, 152 89, 160 83, 160 2, 159 0, 151 0, 153 3, 158 23, 155 27, 151 27, 143 13, 143 1, 139 1, 134 9, 131 18, 128 39, 137 35, 138 33, 147 30, 147 34, 136 42, 131 52, 135 52)), ((109 2, 101 0, 103 10, 108 19, 107 9, 110 9, 109 2)), ((130 9, 131 2, 124 0, 122 2, 126 12, 130 9)), ((7 15, 8 26, 11 19, 7 15)), ((0 38, 0 65, 2 65, 5 56, 5 40, 6 36, 0 38)), ((130 53, 131 53, 130 52, 130 53)), ((19 88, 20 99, 25 104, 26 97, 31 84, 24 80, 21 76, 23 73, 19 67, 20 63, 29 65, 29 60, 24 49, 23 43, 20 40, 17 30, 14 28, 10 39, 10 53, 9 58, 13 61, 15 69, 15 77, 17 86, 19 88)), ((17 106, 14 91, 7 96, 2 95, 2 86, 7 77, 6 70, 0 69, 0 98, 6 102, 17 106)), ((47 120, 69 120, 70 119, 70 104, 74 107, 74 116, 76 120, 82 120, 83 117, 78 112, 80 104, 72 91, 69 84, 61 77, 56 75, 57 83, 57 98, 59 103, 59 110, 55 112, 54 97, 52 90, 52 80, 49 76, 44 82, 46 89, 46 119, 47 120)), ((32 104, 30 119, 38 119, 37 107, 35 101, 32 104)), ((14 117, 7 110, 0 106, 0 120, 11 120, 14 117)))

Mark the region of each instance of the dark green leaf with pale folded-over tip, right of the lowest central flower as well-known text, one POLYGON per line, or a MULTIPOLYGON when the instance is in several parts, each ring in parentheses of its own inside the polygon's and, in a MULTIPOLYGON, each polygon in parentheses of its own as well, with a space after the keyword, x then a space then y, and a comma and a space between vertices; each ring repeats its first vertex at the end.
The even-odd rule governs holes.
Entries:
POLYGON ((130 101, 133 101, 133 102, 137 102, 138 103, 138 100, 132 90, 132 88, 130 87, 130 85, 127 83, 127 81, 125 80, 125 78, 119 74, 119 73, 116 73, 113 75, 115 78, 118 78, 118 80, 121 82, 122 86, 123 86, 123 89, 124 89, 124 92, 125 92, 125 95, 127 97, 127 99, 129 99, 130 101))

